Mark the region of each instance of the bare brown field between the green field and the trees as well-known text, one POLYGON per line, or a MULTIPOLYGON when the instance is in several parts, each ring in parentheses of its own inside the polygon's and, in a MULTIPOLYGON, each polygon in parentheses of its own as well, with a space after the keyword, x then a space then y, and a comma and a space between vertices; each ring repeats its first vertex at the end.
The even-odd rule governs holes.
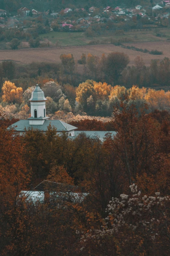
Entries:
POLYGON ((138 48, 148 50, 163 51, 163 55, 150 55, 148 53, 137 52, 134 50, 124 49, 120 46, 113 44, 99 44, 99 45, 83 45, 83 46, 63 46, 63 47, 51 47, 51 48, 29 48, 19 50, 0 50, 0 61, 2 60, 13 60, 20 63, 30 62, 60 62, 61 54, 72 53, 75 59, 80 59, 82 53, 92 53, 99 57, 103 53, 106 55, 110 52, 123 52, 128 54, 130 58, 130 65, 134 64, 136 56, 141 56, 145 61, 146 65, 149 65, 151 59, 160 59, 164 57, 170 58, 170 42, 159 41, 159 42, 145 42, 145 43, 126 43, 126 45, 134 45, 138 48))

